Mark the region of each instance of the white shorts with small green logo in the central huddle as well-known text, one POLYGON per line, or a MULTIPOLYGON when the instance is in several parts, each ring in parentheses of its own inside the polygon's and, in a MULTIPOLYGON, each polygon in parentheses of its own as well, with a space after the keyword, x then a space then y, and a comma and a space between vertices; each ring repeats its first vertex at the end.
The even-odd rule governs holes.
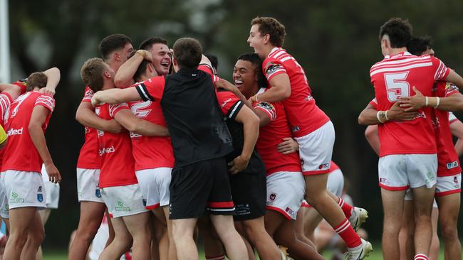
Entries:
POLYGON ((113 217, 147 212, 138 184, 101 188, 101 197, 113 217))

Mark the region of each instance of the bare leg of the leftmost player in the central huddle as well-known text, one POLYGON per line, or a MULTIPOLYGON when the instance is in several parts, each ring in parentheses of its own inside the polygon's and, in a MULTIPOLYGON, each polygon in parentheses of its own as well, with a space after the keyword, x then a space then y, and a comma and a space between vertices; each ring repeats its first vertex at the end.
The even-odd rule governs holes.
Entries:
POLYGON ((69 248, 69 260, 84 260, 88 248, 100 227, 105 204, 100 202, 80 202, 80 218, 73 243, 69 248))

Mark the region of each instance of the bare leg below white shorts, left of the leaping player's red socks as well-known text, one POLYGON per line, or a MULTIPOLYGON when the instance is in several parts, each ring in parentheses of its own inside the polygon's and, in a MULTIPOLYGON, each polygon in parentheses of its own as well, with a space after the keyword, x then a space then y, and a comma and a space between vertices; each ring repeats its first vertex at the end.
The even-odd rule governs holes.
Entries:
POLYGON ((274 237, 276 244, 287 247, 288 252, 291 252, 293 257, 297 259, 299 256, 301 259, 323 259, 315 249, 296 239, 296 227, 293 220, 287 220, 281 213, 274 210, 267 210, 264 220, 265 229, 271 237, 274 237), (278 239, 276 239, 276 234, 278 234, 278 239))

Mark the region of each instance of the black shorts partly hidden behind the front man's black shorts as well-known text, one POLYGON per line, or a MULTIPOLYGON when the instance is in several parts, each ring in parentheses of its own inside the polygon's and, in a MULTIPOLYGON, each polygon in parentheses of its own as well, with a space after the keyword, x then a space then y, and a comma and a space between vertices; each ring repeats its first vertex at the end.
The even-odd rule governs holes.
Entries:
POLYGON ((236 207, 234 220, 254 220, 265 215, 267 178, 265 168, 230 175, 231 196, 236 207))

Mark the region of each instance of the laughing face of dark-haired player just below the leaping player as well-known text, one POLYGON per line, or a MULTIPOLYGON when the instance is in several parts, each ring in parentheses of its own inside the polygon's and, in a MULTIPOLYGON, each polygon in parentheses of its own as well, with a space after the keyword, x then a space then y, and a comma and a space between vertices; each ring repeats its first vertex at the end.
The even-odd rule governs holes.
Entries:
POLYGON ((237 60, 233 69, 234 85, 245 97, 251 97, 259 90, 256 67, 248 60, 237 60))

